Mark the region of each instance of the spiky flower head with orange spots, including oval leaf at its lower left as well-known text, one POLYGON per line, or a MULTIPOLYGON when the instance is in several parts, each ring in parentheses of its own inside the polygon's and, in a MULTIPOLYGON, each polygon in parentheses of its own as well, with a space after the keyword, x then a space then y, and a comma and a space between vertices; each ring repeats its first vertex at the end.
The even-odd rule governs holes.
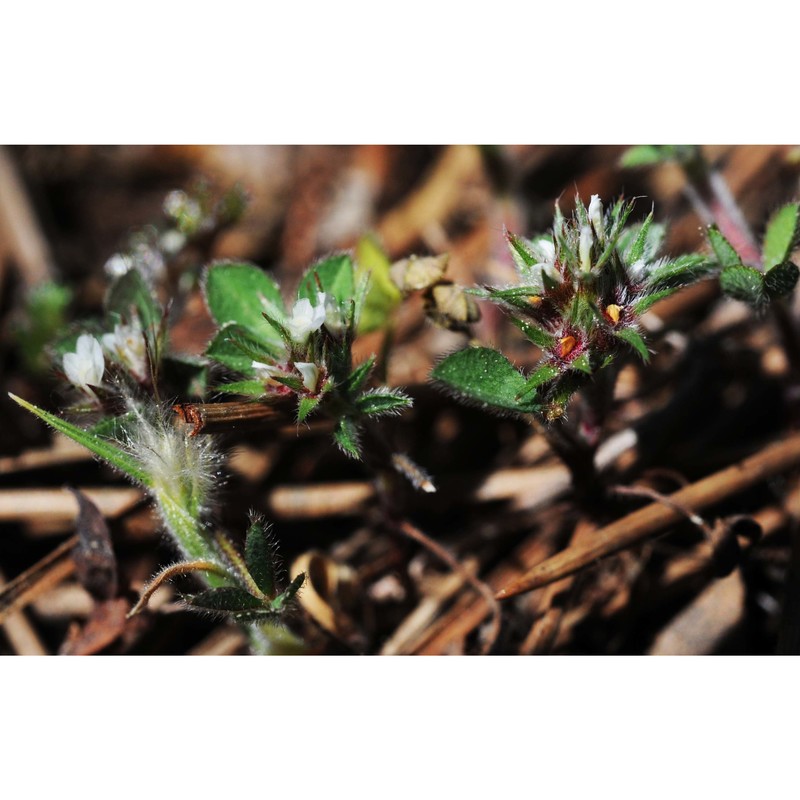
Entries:
POLYGON ((467 399, 553 420, 564 414, 577 389, 626 351, 632 348, 647 361, 641 315, 697 280, 709 265, 698 255, 659 258, 663 227, 652 213, 628 226, 632 210, 623 200, 604 210, 597 195, 588 207, 576 198, 571 218, 556 205, 550 233, 532 239, 507 233, 519 284, 485 287, 480 294, 502 306, 540 348, 539 364, 523 379, 501 364, 498 357, 505 359, 496 351, 476 354, 482 348, 472 348, 472 354, 461 351, 442 361, 433 377, 467 399), (489 363, 507 375, 494 395, 488 380, 468 377, 466 367, 479 361, 491 381, 498 372, 487 371, 489 363))

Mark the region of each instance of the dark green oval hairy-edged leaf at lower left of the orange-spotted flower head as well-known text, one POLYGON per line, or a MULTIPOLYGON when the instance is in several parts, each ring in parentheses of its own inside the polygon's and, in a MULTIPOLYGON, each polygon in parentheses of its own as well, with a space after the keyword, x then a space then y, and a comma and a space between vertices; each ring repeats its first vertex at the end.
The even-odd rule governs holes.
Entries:
POLYGON ((440 361, 431 378, 458 396, 518 413, 532 407, 517 398, 525 390, 525 376, 497 350, 468 347, 440 361))

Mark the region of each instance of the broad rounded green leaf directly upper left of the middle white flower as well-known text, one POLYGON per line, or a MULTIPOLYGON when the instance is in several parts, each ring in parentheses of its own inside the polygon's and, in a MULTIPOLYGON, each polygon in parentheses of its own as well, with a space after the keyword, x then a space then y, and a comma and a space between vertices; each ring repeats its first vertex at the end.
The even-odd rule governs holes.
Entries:
POLYGON ((206 305, 220 328, 235 323, 257 339, 275 342, 277 333, 264 322, 264 311, 284 313, 278 284, 254 264, 223 261, 206 270, 206 305), (266 301, 266 302, 265 302, 266 301))

